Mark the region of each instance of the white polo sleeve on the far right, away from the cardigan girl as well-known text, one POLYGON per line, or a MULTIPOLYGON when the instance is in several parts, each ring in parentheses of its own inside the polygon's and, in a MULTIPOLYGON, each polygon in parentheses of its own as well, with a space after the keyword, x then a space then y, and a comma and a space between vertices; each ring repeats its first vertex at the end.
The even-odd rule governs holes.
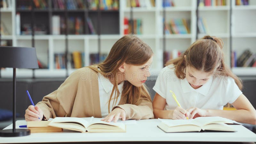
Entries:
POLYGON ((235 80, 232 77, 228 77, 224 81, 224 86, 226 89, 225 95, 222 96, 223 101, 227 104, 232 104, 236 99, 243 93, 236 85, 235 80))

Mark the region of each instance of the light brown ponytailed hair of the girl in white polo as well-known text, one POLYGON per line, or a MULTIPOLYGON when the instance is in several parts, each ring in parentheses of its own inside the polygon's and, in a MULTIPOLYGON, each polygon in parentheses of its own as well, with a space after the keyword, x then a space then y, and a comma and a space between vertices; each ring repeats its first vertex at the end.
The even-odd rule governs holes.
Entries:
POLYGON ((178 58, 166 62, 166 66, 174 64, 175 74, 178 78, 184 79, 184 73, 187 66, 191 66, 196 70, 204 72, 212 72, 219 76, 232 77, 240 90, 243 84, 231 69, 225 64, 224 54, 222 51, 223 41, 215 36, 204 36, 197 40, 182 53, 178 58), (186 58, 184 57, 186 55, 186 58))

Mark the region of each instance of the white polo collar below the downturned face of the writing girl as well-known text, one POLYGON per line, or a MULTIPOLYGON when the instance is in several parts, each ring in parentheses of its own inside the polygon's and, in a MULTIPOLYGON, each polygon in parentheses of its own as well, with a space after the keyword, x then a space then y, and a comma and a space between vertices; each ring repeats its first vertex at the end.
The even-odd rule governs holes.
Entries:
POLYGON ((180 80, 180 83, 181 83, 181 88, 182 88, 182 91, 184 93, 188 93, 188 92, 193 92, 193 91, 196 91, 196 92, 199 92, 201 93, 202 95, 206 96, 211 88, 211 85, 212 85, 212 79, 213 77, 211 76, 209 78, 209 80, 207 81, 207 83, 205 83, 204 85, 202 85, 200 88, 198 89, 194 89, 191 87, 191 85, 188 83, 187 79, 184 78, 184 79, 181 79, 180 80))

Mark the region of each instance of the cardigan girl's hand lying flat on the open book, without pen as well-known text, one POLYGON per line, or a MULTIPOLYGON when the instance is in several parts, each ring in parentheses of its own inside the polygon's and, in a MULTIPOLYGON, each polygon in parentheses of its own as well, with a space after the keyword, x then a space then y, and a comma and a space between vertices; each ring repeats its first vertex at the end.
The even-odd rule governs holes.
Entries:
POLYGON ((114 120, 114 122, 117 122, 119 118, 122 118, 123 121, 125 120, 125 111, 124 109, 117 107, 112 110, 107 117, 101 120, 105 122, 111 122, 112 120, 114 120))

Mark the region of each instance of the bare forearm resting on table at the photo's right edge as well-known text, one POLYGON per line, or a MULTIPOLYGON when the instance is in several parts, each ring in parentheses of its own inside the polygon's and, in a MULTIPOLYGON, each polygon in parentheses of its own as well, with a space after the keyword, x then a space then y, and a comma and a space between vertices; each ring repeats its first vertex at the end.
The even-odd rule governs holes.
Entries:
POLYGON ((221 116, 240 123, 256 124, 256 116, 245 109, 238 110, 206 110, 206 116, 221 116))

